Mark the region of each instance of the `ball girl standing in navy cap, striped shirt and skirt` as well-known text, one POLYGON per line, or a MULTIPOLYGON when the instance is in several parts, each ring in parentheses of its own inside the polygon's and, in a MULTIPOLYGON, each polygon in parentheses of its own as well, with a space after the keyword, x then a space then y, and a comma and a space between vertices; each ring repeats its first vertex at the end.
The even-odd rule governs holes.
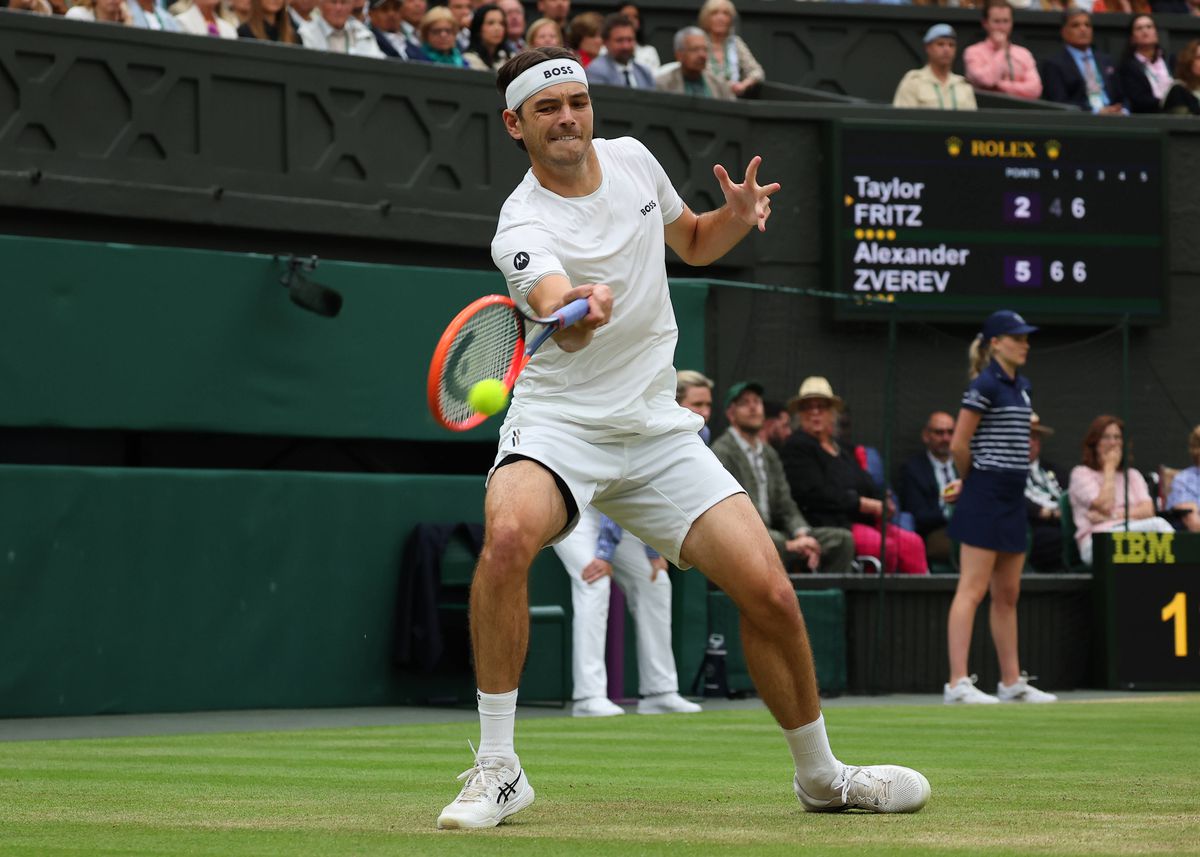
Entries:
POLYGON ((1020 373, 1037 328, 1015 312, 998 310, 967 350, 971 385, 954 422, 950 454, 962 474, 962 491, 950 517, 960 544, 959 585, 947 618, 949 681, 947 705, 1056 702, 1021 671, 1016 646, 1016 601, 1021 594, 1027 526, 1025 481, 1030 472, 1030 382, 1020 373), (991 640, 1000 661, 996 695, 976 688, 967 675, 974 616, 989 595, 991 640))

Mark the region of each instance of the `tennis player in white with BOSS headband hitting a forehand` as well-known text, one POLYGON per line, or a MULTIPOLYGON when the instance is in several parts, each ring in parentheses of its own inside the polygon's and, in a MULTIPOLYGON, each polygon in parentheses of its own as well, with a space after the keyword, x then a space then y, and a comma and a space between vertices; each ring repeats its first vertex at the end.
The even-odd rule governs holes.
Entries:
POLYGON ((485 543, 470 589, 480 745, 438 827, 492 827, 534 801, 514 748, 517 681, 529 637, 534 556, 594 504, 682 569, 696 565, 738 606, 746 664, 784 730, 806 810, 920 809, 929 783, 898 766, 850 767, 826 737, 796 593, 762 519, 674 400, 677 328, 664 241, 692 265, 766 229, 778 184, 761 158, 726 203, 696 215, 636 139, 593 139, 583 67, 563 48, 509 60, 497 86, 504 127, 530 169, 500 210, 492 258, 522 311, 587 298, 589 312, 538 352, 500 427, 485 501, 485 543))

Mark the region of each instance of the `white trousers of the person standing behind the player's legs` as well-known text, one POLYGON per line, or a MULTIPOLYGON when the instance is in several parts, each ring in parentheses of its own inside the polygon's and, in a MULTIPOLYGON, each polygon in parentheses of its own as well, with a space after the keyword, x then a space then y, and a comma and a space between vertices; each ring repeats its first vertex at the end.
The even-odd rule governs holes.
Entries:
POLYGON ((588 508, 580 523, 554 552, 571 576, 572 697, 587 700, 608 695, 608 670, 605 666, 605 641, 608 636, 608 595, 611 581, 625 593, 629 612, 637 630, 637 677, 642 696, 679 689, 674 654, 671 651, 671 579, 661 571, 650 582, 650 561, 646 545, 626 532, 612 559, 612 577, 583 582, 583 568, 595 559, 600 513, 588 508))

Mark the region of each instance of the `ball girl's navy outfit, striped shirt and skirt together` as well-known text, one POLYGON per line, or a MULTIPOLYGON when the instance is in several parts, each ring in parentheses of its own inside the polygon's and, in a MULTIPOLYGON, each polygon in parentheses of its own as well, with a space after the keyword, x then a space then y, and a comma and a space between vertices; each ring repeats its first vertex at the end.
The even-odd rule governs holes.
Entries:
POLYGON ((980 418, 971 438, 971 472, 954 504, 949 535, 974 547, 1024 553, 1030 382, 1020 373, 1009 378, 992 360, 962 394, 962 407, 980 418))

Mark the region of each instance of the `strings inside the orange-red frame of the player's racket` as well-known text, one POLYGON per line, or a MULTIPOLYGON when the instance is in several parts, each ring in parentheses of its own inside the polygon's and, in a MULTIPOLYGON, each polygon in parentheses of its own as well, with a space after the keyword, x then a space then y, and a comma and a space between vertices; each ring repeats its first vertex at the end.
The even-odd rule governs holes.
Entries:
POLYGON ((475 415, 467 403, 470 388, 487 378, 504 380, 522 341, 522 319, 511 306, 485 306, 467 319, 446 350, 438 380, 438 400, 446 421, 464 422, 475 415))

